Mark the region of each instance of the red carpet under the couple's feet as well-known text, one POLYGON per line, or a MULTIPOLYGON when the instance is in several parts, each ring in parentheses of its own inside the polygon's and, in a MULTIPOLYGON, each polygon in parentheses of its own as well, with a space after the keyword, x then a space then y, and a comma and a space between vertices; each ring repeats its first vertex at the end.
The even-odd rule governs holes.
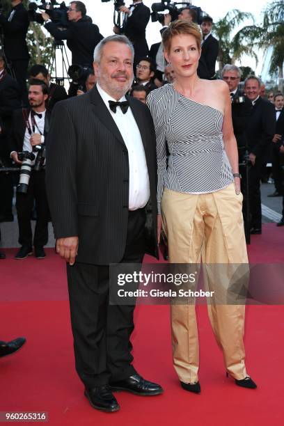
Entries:
MULTIPOLYGON (((253 236, 251 262, 283 262, 284 229, 269 223, 253 236)), ((74 370, 65 267, 51 249, 47 259, 0 263, 0 338, 26 336, 20 352, 0 359, 0 411, 47 411, 49 425, 283 425, 283 306, 248 306, 246 365, 258 383, 246 390, 226 379, 205 306, 198 306, 200 383, 180 388, 171 363, 168 306, 136 308, 135 366, 165 390, 158 397, 117 393, 118 413, 93 410, 74 370)), ((150 261, 150 258, 148 258, 150 261)), ((20 423, 24 424, 24 423, 20 423)))

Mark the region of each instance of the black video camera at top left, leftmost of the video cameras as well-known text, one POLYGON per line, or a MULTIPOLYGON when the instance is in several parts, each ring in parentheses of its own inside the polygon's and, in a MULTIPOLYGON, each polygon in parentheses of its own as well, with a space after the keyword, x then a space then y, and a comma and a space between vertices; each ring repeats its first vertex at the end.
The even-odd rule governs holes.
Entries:
POLYGON ((68 16, 67 11, 68 7, 65 5, 65 1, 61 3, 57 3, 56 0, 40 0, 40 3, 36 3, 33 1, 29 3, 29 20, 31 22, 38 22, 39 24, 43 24, 43 19, 40 13, 37 13, 36 10, 44 10, 52 19, 52 22, 55 24, 60 24, 62 26, 68 26, 68 16), (57 6, 57 7, 56 7, 57 6))

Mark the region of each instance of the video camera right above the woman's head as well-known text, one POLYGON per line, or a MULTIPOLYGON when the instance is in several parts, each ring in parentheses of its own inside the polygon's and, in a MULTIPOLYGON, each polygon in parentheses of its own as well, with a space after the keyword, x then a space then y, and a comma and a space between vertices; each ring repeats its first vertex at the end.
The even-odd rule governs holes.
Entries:
POLYGON ((190 8, 191 10, 194 10, 194 12, 196 13, 196 24, 201 24, 203 19, 203 11, 197 6, 192 6, 191 1, 182 1, 180 3, 177 3, 175 1, 171 2, 171 0, 161 0, 160 3, 153 3, 151 7, 152 22, 159 21, 161 24, 163 24, 164 14, 159 12, 164 12, 165 10, 168 10, 168 13, 171 15, 171 20, 173 22, 178 19, 178 15, 180 15, 181 8, 190 8), (177 6, 180 6, 180 8, 178 8, 177 6))

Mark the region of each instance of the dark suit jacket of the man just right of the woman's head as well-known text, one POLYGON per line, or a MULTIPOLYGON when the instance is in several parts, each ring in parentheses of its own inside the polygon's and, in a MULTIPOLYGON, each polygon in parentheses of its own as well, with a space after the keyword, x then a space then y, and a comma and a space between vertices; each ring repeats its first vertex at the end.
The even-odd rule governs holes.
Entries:
POLYGON ((197 74, 200 79, 210 80, 215 74, 216 58, 219 53, 219 42, 210 34, 201 47, 197 74))

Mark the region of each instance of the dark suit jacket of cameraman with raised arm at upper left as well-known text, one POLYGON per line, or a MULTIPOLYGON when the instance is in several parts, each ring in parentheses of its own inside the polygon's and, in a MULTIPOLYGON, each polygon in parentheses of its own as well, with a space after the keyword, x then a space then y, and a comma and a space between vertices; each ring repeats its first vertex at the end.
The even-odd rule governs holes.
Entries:
POLYGON ((88 19, 82 18, 78 22, 70 22, 68 28, 61 31, 54 22, 45 24, 45 28, 56 40, 67 40, 68 48, 72 53, 72 65, 93 66, 95 47, 103 36, 95 24, 90 24, 88 19))

